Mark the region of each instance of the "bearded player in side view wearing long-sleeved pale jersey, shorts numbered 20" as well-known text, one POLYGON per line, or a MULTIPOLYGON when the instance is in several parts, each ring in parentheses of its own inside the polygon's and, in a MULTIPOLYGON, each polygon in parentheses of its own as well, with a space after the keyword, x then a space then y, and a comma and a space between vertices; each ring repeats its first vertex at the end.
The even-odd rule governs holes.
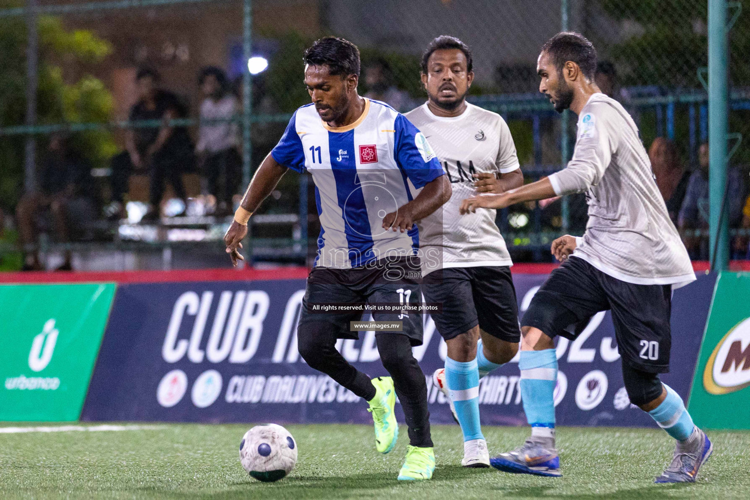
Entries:
POLYGON ((555 109, 578 115, 567 168, 502 194, 464 200, 479 207, 586 192, 589 222, 583 238, 562 236, 552 253, 562 265, 541 286, 523 315, 520 388, 532 436, 490 460, 505 472, 560 476, 553 391, 555 335, 574 339, 589 318, 612 311, 622 378, 631 403, 676 439, 673 459, 657 483, 692 483, 712 444, 692 421, 682 398, 661 383, 669 371, 672 289, 695 280, 687 250, 659 194, 637 127, 625 109, 594 82, 596 51, 580 34, 563 32, 541 49, 539 91, 555 109))

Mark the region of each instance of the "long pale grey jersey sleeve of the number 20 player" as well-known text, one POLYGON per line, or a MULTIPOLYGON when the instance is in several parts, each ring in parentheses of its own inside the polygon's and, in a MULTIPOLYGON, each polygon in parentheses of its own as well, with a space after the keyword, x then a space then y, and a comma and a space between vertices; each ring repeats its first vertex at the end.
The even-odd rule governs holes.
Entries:
POLYGON ((573 158, 565 169, 548 177, 557 196, 585 192, 601 181, 609 166, 617 148, 617 136, 609 121, 609 110, 604 106, 607 104, 592 106, 583 114, 573 158))

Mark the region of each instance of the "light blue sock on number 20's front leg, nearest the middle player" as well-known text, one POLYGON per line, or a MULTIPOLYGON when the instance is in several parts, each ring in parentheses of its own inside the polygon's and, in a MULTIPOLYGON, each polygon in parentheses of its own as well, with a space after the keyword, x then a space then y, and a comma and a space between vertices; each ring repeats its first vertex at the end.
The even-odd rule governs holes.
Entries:
POLYGON ((557 355, 554 349, 521 351, 520 394, 532 436, 554 437, 557 355))

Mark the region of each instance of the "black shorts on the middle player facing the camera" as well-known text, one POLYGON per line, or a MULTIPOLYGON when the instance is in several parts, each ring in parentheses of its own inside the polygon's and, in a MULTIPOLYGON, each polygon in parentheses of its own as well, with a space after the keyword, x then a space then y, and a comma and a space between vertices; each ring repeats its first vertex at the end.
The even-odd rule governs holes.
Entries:
POLYGON ((476 325, 493 337, 520 340, 518 304, 507 265, 439 269, 423 278, 422 293, 426 302, 443 304, 443 313, 432 319, 445 340, 476 325))

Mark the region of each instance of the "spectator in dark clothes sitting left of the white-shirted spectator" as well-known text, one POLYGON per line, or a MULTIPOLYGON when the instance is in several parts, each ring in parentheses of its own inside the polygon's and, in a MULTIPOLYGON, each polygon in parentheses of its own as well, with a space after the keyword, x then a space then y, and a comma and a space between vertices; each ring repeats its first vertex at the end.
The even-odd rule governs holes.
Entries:
POLYGON ((133 172, 148 172, 148 213, 143 217, 153 220, 159 216, 159 203, 164 193, 164 181, 169 178, 175 196, 187 202, 182 173, 193 169, 193 145, 185 127, 172 127, 166 121, 184 118, 185 106, 172 92, 157 88, 159 75, 151 69, 136 73, 138 102, 130 109, 130 120, 163 120, 161 127, 136 127, 127 130, 125 151, 112 159, 112 193, 115 209, 123 214, 122 202, 128 190, 128 179, 133 172))

